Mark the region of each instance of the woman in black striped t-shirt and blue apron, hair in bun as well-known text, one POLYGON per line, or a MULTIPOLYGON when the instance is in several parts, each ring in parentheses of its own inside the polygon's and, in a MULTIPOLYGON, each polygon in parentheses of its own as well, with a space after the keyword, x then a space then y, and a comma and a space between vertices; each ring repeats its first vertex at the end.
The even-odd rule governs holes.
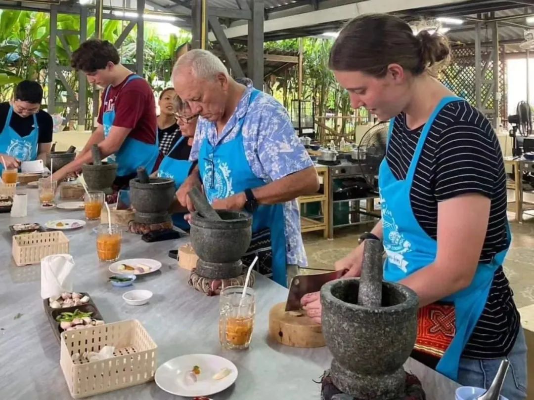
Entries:
MULTIPOLYGON (((379 170, 384 279, 419 296, 412 357, 462 385, 489 387, 501 359, 502 390, 526 397, 527 349, 502 269, 510 245, 506 174, 488 120, 437 79, 450 48, 438 33, 414 35, 402 19, 362 15, 337 37, 329 67, 352 107, 390 119, 379 170)), ((359 276, 363 246, 336 262, 359 276)), ((318 293, 302 299, 320 322, 318 293)))

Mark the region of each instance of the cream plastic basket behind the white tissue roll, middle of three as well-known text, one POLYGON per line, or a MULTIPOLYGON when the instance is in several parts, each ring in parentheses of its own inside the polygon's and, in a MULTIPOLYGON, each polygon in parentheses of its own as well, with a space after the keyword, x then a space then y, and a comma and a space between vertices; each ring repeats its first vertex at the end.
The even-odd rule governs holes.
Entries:
POLYGON ((41 262, 47 255, 66 254, 68 250, 69 241, 61 231, 13 236, 13 259, 19 267, 41 262))

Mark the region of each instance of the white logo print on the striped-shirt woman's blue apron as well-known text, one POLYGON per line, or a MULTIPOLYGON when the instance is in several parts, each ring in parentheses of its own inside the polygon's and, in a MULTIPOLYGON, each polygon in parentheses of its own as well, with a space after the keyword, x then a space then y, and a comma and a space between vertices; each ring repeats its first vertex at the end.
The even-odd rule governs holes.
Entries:
POLYGON ((408 262, 404 259, 403 254, 412 251, 412 244, 399 232, 395 218, 393 218, 391 211, 388 210, 388 205, 383 198, 380 198, 380 207, 382 209, 382 228, 385 233, 388 233, 387 240, 384 240, 384 249, 386 249, 388 260, 404 273, 407 273, 408 262))

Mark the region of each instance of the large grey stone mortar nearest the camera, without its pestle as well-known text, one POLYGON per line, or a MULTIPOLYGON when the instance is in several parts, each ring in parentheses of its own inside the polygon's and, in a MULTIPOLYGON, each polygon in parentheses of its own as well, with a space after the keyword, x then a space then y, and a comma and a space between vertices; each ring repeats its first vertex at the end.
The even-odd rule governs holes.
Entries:
POLYGON ((356 398, 400 397, 403 364, 417 336, 418 297, 406 286, 382 282, 382 306, 360 306, 359 284, 358 278, 338 279, 321 288, 323 334, 334 356, 332 381, 356 398))

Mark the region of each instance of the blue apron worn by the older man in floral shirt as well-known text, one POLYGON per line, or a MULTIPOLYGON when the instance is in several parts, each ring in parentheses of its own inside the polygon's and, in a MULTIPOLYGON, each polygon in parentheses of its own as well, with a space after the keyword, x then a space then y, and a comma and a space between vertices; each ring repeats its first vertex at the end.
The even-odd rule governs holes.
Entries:
MULTIPOLYGON (((259 93, 260 91, 256 89, 252 90, 249 106, 259 93)), ((245 189, 265 185, 262 179, 256 177, 248 164, 243 146, 244 122, 245 116, 237 122, 239 124, 238 134, 228 142, 221 143, 223 136, 218 138, 217 144, 213 146, 207 135, 202 142, 199 154, 200 177, 210 203, 213 203, 216 198, 226 198, 241 193, 245 189)), ((270 229, 271 237, 272 279, 286 286, 286 235, 282 204, 258 206, 252 215, 252 232, 254 234, 266 228, 270 229)))

